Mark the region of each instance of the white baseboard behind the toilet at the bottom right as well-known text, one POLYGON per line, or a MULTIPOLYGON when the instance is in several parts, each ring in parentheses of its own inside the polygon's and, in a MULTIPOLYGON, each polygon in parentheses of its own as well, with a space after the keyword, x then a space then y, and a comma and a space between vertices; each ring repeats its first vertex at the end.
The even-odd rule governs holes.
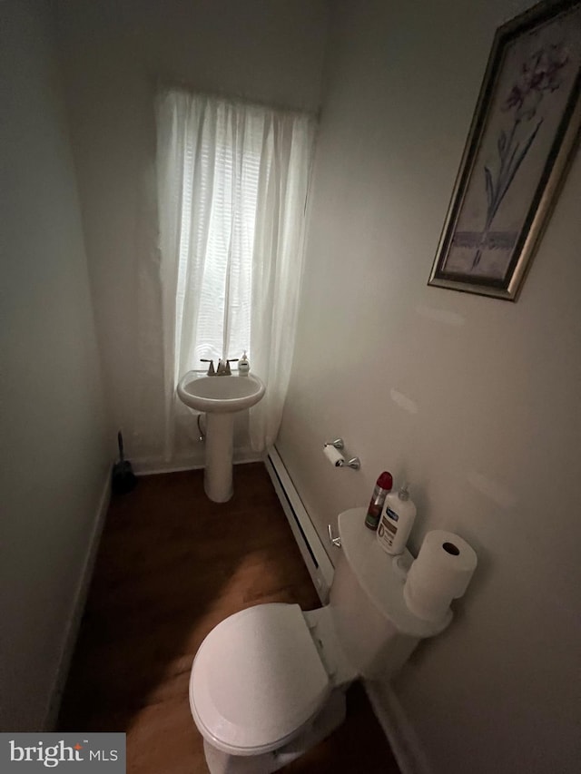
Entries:
POLYGON ((373 681, 364 681, 363 684, 401 774, 433 774, 418 735, 393 688, 373 681))

